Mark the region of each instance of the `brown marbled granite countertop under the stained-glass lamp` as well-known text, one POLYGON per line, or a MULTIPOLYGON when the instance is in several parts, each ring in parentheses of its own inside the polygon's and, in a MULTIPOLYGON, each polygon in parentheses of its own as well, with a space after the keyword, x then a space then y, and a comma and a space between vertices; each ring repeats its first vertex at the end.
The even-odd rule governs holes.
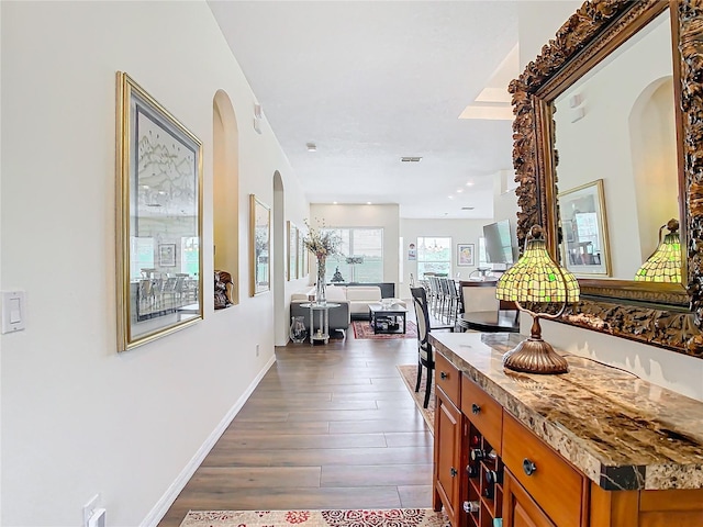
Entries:
MULTIPOLYGON (((703 489, 703 403, 563 355, 569 372, 504 370, 524 337, 433 333, 432 344, 523 425, 605 490, 703 489)), ((559 350, 557 350, 559 352, 559 350)))

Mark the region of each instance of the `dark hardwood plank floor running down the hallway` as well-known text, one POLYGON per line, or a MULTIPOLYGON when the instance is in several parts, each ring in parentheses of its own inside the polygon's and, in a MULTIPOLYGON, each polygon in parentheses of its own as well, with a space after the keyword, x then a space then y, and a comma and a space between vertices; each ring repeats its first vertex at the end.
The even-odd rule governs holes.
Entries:
POLYGON ((432 506, 433 436, 395 368, 415 338, 276 349, 159 527, 189 509, 432 506))

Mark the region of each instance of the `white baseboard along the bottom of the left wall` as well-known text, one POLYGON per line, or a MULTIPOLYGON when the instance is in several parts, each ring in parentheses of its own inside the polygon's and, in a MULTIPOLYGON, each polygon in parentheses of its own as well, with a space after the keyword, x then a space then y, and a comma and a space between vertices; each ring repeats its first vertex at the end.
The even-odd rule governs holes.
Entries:
POLYGON ((217 442, 217 439, 220 439, 220 436, 224 434, 224 430, 227 428, 227 426, 230 426, 230 423, 232 423, 232 419, 234 419, 234 417, 239 413, 239 410, 242 410, 242 406, 244 406, 244 403, 246 403, 247 399, 249 399, 249 395, 252 395, 252 392, 254 392, 254 390, 256 389, 258 383, 261 381, 266 372, 269 370, 271 366, 274 366, 275 362, 276 362, 276 356, 269 359, 269 361, 261 369, 259 374, 256 375, 256 379, 252 381, 252 383, 246 389, 246 391, 242 394, 242 396, 237 400, 237 402, 234 403, 232 408, 230 408, 230 411, 222 418, 220 424, 215 427, 214 430, 212 430, 210 436, 208 436, 208 438, 202 444, 202 446, 198 449, 196 455, 191 458, 188 464, 186 464, 183 470, 181 470, 180 474, 178 474, 178 478, 176 478, 176 481, 174 481, 174 483, 170 484, 170 486, 164 493, 161 498, 156 503, 156 505, 154 505, 154 508, 152 508, 152 511, 149 511, 149 514, 146 515, 146 518, 142 520, 142 523, 140 524, 140 527, 156 527, 158 523, 161 520, 161 518, 164 518, 164 516, 166 515, 170 506, 174 504, 174 502, 178 497, 178 494, 180 494, 180 491, 183 490, 183 487, 186 486, 186 483, 188 483, 188 481, 196 473, 196 470, 198 470, 198 467, 200 467, 200 463, 202 463, 202 460, 205 459, 205 456, 208 456, 212 447, 215 446, 215 442, 217 442))

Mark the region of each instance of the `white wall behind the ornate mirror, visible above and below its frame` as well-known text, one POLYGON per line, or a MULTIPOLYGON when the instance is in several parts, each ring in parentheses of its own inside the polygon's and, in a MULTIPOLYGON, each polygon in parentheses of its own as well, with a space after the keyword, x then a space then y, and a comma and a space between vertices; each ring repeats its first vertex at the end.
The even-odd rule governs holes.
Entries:
MULTIPOLYGON (((580 5, 580 1, 518 2, 521 69, 534 60, 580 5)), ((521 322, 522 333, 528 334, 528 317, 524 315, 521 322)), ((543 329, 545 339, 555 347, 625 368, 655 384, 703 401, 701 359, 548 321, 543 329)))

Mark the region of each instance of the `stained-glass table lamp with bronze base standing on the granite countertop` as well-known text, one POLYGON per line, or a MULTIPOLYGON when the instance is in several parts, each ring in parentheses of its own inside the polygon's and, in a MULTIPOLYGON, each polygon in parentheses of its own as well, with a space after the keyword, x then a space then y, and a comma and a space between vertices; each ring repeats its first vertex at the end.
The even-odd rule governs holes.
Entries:
POLYGON ((499 300, 515 302, 520 311, 533 317, 529 338, 503 356, 503 367, 527 373, 566 373, 569 366, 563 357, 542 338, 539 318, 561 316, 570 302, 579 301, 579 282, 559 267, 547 253, 543 228, 534 225, 525 240, 525 251, 511 269, 503 273, 495 288, 499 300), (521 303, 560 303, 556 314, 539 313, 521 303))

